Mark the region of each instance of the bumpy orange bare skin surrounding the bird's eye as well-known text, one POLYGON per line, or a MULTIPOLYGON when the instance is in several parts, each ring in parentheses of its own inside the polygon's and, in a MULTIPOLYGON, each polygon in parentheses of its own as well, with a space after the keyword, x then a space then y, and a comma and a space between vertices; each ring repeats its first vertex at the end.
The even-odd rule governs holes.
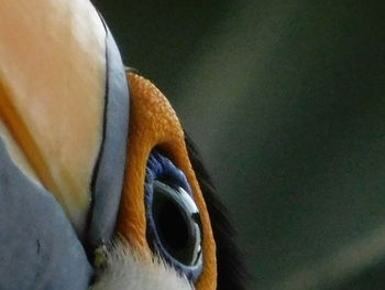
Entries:
POLYGON ((117 230, 144 257, 151 257, 145 235, 144 180, 151 150, 160 148, 185 173, 191 186, 204 228, 204 271, 196 289, 213 290, 217 288, 216 243, 179 120, 167 99, 151 82, 132 73, 128 74, 128 80, 131 94, 130 136, 117 230))

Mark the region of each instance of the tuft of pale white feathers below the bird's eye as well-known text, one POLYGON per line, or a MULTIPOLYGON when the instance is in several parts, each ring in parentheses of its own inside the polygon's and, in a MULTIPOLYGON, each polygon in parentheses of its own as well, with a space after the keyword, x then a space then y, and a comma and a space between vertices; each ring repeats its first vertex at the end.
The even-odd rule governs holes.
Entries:
POLYGON ((161 258, 143 259, 118 243, 106 253, 106 268, 89 290, 194 290, 194 286, 161 258))

